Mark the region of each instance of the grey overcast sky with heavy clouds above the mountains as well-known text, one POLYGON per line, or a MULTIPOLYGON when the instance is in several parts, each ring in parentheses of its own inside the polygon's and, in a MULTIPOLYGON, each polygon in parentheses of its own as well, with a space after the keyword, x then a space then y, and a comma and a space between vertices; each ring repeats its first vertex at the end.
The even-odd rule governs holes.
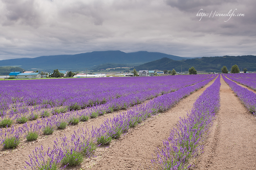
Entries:
POLYGON ((256 55, 255 7, 254 0, 0 0, 0 60, 106 50, 256 55))

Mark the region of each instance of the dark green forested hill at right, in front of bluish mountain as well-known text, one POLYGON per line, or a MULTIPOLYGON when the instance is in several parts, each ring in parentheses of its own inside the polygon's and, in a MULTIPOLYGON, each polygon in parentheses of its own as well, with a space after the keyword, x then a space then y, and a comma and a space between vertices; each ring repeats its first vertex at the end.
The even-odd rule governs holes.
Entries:
POLYGON ((248 71, 256 71, 256 56, 223 56, 223 57, 202 57, 175 61, 170 58, 161 58, 159 60, 151 61, 145 64, 134 67, 136 70, 176 70, 177 72, 188 71, 190 67, 195 67, 197 71, 206 72, 221 72, 221 68, 226 66, 231 70, 233 65, 238 65, 242 71, 247 68, 248 71))

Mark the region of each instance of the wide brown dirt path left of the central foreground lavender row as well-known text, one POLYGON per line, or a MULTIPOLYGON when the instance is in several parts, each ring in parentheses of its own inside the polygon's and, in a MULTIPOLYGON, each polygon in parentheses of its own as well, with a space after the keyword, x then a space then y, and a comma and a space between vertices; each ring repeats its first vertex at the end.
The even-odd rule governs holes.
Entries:
POLYGON ((83 169, 91 170, 137 170, 151 166, 152 154, 157 147, 163 146, 163 140, 170 136, 180 117, 186 116, 201 93, 213 83, 181 100, 172 109, 161 113, 138 127, 131 129, 121 139, 111 142, 107 147, 98 148, 94 158, 87 159, 83 169))

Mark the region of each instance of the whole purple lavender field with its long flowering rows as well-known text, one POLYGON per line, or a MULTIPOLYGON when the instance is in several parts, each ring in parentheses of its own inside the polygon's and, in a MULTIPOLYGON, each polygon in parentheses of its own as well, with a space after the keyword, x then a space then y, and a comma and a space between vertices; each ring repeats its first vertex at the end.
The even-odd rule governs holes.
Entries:
MULTIPOLYGON (((86 158, 94 157, 98 147, 110 145, 130 128, 166 112, 216 77, 177 75, 1 81, 2 148, 22 150, 20 147, 30 143, 35 146, 35 141, 54 134, 57 137, 51 137, 48 145, 29 149, 30 154, 21 160, 23 168, 54 170, 80 166, 86 158), (114 112, 117 114, 109 115, 114 112), (108 118, 100 118, 106 114, 108 118), (88 128, 90 122, 97 119, 102 120, 101 123, 88 128), (67 127, 73 133, 71 130, 69 135, 63 135, 61 132, 67 127)), ((244 79, 253 79, 248 77, 244 79)), ((207 139, 206 134, 220 107, 219 88, 220 76, 195 101, 187 118, 181 118, 177 129, 171 130, 170 137, 163 143, 164 150, 158 148, 156 158, 152 159, 154 166, 160 169, 191 166, 189 160, 203 148, 202 142, 207 139)), ((255 114, 255 103, 240 99, 255 114)))

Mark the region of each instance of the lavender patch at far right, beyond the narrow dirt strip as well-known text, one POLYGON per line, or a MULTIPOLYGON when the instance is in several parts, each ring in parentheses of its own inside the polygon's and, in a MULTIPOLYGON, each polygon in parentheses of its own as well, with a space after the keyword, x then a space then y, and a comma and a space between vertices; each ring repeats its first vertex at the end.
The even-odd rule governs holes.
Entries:
POLYGON ((256 74, 255 73, 225 74, 225 76, 233 81, 236 81, 242 85, 250 87, 253 90, 256 90, 256 74))

